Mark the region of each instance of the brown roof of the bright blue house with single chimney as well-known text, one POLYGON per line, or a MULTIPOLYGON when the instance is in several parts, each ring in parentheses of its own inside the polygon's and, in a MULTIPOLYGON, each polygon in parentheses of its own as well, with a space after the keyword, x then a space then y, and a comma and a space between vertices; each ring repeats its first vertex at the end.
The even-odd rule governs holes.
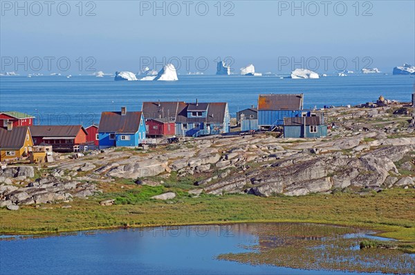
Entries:
POLYGON ((142 112, 127 112, 121 115, 121 112, 102 112, 100 133, 137 133, 140 127, 142 112))

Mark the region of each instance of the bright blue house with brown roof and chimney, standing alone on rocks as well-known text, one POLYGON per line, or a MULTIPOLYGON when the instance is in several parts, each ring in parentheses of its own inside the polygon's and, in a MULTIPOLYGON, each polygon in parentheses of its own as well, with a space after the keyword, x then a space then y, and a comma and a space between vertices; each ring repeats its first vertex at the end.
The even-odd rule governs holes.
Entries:
POLYGON ((102 112, 98 137, 100 149, 109 147, 136 147, 145 140, 145 120, 142 112, 102 112))

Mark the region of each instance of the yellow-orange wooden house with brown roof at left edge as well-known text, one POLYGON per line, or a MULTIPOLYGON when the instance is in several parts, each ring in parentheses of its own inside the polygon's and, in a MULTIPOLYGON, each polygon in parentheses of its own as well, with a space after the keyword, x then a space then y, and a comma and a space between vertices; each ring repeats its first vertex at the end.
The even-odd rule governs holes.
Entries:
POLYGON ((0 161, 26 158, 32 151, 33 140, 27 126, 0 128, 0 161))

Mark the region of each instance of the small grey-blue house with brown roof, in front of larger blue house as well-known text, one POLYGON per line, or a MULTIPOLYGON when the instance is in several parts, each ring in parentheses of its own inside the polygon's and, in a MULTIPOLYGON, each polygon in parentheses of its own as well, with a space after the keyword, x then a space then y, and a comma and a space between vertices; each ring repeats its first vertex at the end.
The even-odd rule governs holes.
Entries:
POLYGON ((324 138, 327 125, 320 117, 286 117, 284 118, 284 138, 324 138))

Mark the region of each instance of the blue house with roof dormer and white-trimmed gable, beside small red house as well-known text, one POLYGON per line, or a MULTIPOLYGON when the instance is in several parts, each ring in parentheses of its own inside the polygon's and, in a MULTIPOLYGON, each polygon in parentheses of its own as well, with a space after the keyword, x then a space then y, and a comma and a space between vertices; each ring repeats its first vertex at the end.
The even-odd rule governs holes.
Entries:
POLYGON ((178 110, 176 135, 199 137, 230 132, 230 114, 226 102, 187 103, 178 110))

